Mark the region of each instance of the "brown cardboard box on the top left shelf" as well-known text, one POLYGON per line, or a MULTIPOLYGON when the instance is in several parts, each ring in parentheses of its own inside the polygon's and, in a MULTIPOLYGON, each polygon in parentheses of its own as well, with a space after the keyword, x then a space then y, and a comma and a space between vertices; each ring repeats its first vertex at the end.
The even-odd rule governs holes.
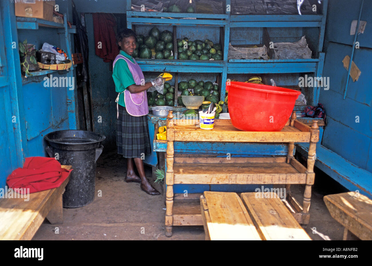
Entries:
POLYGON ((53 20, 55 1, 18 0, 14 4, 17 17, 36 17, 38 19, 53 20))

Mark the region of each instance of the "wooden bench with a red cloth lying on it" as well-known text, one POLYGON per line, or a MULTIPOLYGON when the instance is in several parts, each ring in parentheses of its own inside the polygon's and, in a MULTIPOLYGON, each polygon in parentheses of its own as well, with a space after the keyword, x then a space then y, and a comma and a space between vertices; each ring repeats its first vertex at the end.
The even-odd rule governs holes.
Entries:
POLYGON ((45 218, 52 225, 63 223, 62 194, 69 180, 70 175, 55 189, 29 194, 28 201, 0 199, 0 240, 31 240, 45 218))

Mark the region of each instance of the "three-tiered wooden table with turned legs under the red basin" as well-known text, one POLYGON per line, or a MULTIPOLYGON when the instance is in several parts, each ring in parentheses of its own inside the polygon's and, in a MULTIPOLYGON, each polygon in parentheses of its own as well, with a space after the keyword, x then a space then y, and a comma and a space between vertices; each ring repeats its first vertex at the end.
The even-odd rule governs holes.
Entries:
POLYGON ((173 184, 286 184, 287 199, 293 206, 295 219, 307 225, 318 140, 317 121, 309 127, 296 120, 295 112, 280 132, 247 132, 232 126, 231 120, 215 120, 214 129, 200 129, 199 120, 173 119, 170 111, 167 118, 166 236, 172 235, 173 225, 202 225, 201 214, 198 214, 199 197, 174 197, 173 184), (193 140, 288 143, 288 154, 248 158, 174 156, 173 142, 193 140), (310 143, 307 168, 293 156, 295 142, 310 143), (291 196, 290 184, 306 184, 302 206, 291 196))

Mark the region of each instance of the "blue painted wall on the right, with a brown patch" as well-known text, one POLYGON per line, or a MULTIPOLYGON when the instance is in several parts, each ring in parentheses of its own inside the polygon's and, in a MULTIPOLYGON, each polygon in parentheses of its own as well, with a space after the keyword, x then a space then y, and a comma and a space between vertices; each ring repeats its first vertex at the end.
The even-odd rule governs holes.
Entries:
MULTIPOLYGON (((358 19, 360 3, 360 0, 329 3, 323 76, 330 77, 330 89, 320 92, 319 102, 324 104, 328 118, 321 144, 371 172, 372 50, 365 47, 372 47, 372 29, 368 29, 368 23, 365 33, 357 38, 360 49, 355 49, 353 59, 362 73, 356 82, 350 78, 346 99, 343 99, 349 77, 342 60, 351 55, 353 36, 350 36, 350 24, 358 19)), ((371 1, 364 1, 361 20, 371 21, 371 9, 371 1)))

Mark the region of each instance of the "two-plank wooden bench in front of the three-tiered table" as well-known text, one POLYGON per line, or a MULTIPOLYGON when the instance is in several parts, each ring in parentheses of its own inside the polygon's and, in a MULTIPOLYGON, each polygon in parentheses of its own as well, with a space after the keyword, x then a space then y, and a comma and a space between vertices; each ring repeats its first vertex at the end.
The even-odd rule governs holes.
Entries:
POLYGON ((256 194, 204 192, 205 240, 311 240, 279 198, 256 194))

